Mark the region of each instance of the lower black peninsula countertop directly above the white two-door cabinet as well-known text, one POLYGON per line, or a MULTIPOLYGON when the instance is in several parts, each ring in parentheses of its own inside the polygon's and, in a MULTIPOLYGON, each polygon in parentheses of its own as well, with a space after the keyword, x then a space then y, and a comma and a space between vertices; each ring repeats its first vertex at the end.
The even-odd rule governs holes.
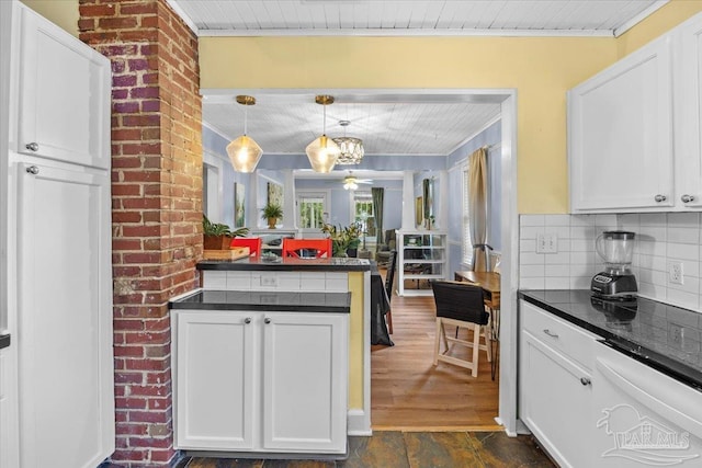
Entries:
POLYGON ((169 303, 170 309, 351 312, 351 293, 204 290, 169 303))

